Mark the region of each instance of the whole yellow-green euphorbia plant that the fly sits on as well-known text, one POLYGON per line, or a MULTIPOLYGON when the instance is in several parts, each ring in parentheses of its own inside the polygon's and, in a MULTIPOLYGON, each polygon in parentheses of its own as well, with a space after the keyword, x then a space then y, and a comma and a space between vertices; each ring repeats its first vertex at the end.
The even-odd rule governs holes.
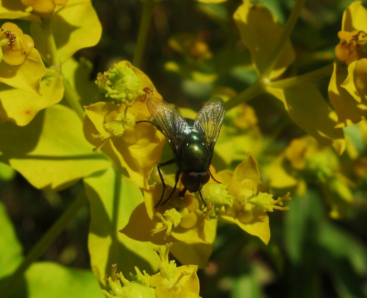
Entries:
MULTIPOLYGON (((0 32, 0 161, 42 191, 61 191, 81 181, 73 203, 25 256, 6 213, 0 210, 6 239, 16 247, 7 258, 1 258, 5 249, 0 247, 3 295, 23 291, 17 283, 25 274, 30 297, 51 293, 32 287, 39 280, 47 280, 48 287, 59 287, 64 297, 101 297, 100 288, 105 297, 200 297, 198 272, 213 265, 211 258, 226 239, 250 243, 247 250, 241 243, 226 251, 225 256, 232 259, 228 264, 238 269, 243 251, 254 246, 266 251, 270 244, 268 255, 281 271, 281 246, 270 237, 271 224, 274 221, 275 226, 277 220, 270 213, 289 210, 286 219, 291 224, 285 227, 284 237, 295 240, 285 241, 284 246, 289 258, 299 265, 304 253, 299 247, 302 241, 311 240, 300 238, 306 232, 294 235, 292 228, 312 229, 321 218, 319 205, 314 203, 317 196, 310 194, 320 193, 329 216, 340 219, 353 210, 355 190, 366 193, 367 13, 361 2, 348 6, 342 31, 335 32, 340 38, 335 62, 332 56, 328 65, 302 72, 296 68, 300 53, 291 34, 304 0, 295 1, 284 25, 272 10, 249 0, 236 4, 198 0, 195 7, 220 24, 228 40, 212 46, 207 40, 208 35, 214 36, 211 29, 211 34, 170 34, 160 63, 168 77, 180 82, 181 90, 176 93, 201 99, 189 108, 182 103, 194 101, 166 96, 168 84, 148 67, 153 63, 148 59, 148 29, 152 16, 158 28, 163 27, 157 15, 165 2, 141 2, 133 55, 95 73, 90 62, 74 55, 101 39, 102 26, 90 0, 0 3, 4 19, 0 32), (237 75, 239 83, 228 80, 231 75, 237 75), (330 104, 324 96, 326 88, 315 83, 328 76, 330 104), (180 197, 184 186, 179 181, 170 199, 156 204, 162 181, 168 188, 167 198, 178 176, 176 168, 161 168, 163 175, 157 171, 157 164, 167 160, 162 156, 172 152, 159 126, 147 123, 152 121, 147 99, 164 99, 175 104, 184 117, 195 118, 195 110, 215 96, 223 98, 227 114, 213 153, 213 179, 200 189, 202 198, 190 192, 180 197), (281 118, 281 125, 266 129, 259 122, 258 116, 264 120, 266 105, 277 107, 277 112, 269 114, 281 118), (355 123, 359 123, 358 133, 345 130, 345 138, 343 128, 355 123), (282 137, 283 127, 290 132, 286 137, 282 137), (288 202, 291 193, 297 199, 288 202), (315 205, 304 208, 311 210, 309 226, 297 222, 287 206, 305 201, 315 205), (91 270, 38 262, 87 203, 91 270), (232 231, 240 236, 230 238, 232 231), (111 276, 106 276, 111 264, 111 276), (131 273, 134 271, 136 275, 131 273), (74 284, 65 286, 72 284, 70 281, 74 284)), ((317 230, 322 236, 314 237, 320 242, 316 245, 314 238, 311 242, 330 250, 332 241, 325 235, 334 232, 344 238, 325 221, 320 220, 321 231, 317 230)), ((278 237, 280 229, 275 229, 278 237)), ((258 264, 255 259, 246 266, 258 264)), ((363 272, 367 266, 361 268, 363 272)), ((210 270, 204 270, 209 275, 210 270)))

